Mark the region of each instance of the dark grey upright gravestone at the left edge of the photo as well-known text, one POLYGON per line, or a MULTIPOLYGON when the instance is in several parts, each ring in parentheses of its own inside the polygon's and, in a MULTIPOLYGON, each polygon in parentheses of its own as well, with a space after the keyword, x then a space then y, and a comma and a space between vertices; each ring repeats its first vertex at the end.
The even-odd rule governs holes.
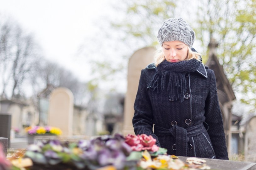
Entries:
POLYGON ((7 147, 10 147, 11 121, 11 115, 0 114, 0 137, 8 138, 7 147))

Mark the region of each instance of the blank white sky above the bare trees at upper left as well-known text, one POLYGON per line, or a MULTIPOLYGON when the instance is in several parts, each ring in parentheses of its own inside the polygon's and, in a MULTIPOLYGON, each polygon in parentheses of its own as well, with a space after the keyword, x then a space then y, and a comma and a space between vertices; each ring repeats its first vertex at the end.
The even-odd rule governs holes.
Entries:
POLYGON ((108 0, 0 0, 0 15, 10 16, 35 36, 46 59, 88 80, 89 68, 77 56, 79 46, 108 13, 108 0))

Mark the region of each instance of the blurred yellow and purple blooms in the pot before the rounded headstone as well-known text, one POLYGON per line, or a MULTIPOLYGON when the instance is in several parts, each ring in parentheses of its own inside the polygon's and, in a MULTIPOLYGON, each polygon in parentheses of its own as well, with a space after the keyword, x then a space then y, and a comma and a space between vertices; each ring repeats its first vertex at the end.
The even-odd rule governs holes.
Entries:
POLYGON ((28 135, 35 134, 52 134, 52 135, 61 135, 62 131, 60 128, 52 127, 52 126, 29 126, 25 128, 25 131, 28 135))

